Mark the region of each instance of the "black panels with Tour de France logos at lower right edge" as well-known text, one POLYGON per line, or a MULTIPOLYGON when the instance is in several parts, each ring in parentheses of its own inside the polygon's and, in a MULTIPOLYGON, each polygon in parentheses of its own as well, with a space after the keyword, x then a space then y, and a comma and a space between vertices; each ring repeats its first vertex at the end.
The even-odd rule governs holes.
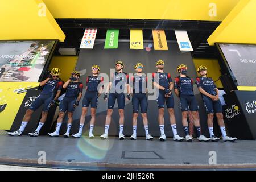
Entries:
POLYGON ((238 139, 256 138, 256 92, 235 90, 224 95, 224 121, 228 134, 238 139))

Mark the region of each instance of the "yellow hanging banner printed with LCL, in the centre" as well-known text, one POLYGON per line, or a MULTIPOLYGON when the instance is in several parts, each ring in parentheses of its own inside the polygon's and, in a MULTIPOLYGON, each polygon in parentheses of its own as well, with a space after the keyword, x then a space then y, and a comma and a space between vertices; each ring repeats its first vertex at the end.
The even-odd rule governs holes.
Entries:
POLYGON ((142 30, 130 31, 130 49, 144 49, 142 30))

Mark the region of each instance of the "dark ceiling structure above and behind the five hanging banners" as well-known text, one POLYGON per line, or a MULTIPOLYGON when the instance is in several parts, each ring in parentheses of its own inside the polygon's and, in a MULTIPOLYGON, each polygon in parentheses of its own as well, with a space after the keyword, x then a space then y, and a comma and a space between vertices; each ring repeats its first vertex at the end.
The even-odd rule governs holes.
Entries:
MULTIPOLYGON (((217 58, 215 46, 209 46, 207 39, 221 22, 188 20, 148 20, 148 19, 56 19, 66 35, 59 47, 79 49, 85 28, 98 28, 96 39, 105 39, 106 30, 119 29, 119 39, 130 40, 130 29, 143 29, 143 40, 152 40, 152 29, 166 30, 167 41, 176 41, 174 30, 187 30, 195 58, 217 58)), ((56 51, 57 53, 57 51, 56 51)))

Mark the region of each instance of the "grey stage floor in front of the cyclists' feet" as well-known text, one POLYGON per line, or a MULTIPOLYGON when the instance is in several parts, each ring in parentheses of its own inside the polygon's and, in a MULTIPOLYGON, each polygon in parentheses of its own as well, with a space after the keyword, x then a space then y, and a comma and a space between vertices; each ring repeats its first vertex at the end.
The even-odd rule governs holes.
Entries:
MULTIPOLYGON (((130 137, 130 136, 129 136, 130 137)), ((89 170, 256 169, 256 141, 174 142, 0 136, 0 164, 89 170), (44 153, 45 152, 45 153, 44 153), (46 164, 39 164, 46 156, 46 164), (216 164, 214 156, 216 154, 216 164)))

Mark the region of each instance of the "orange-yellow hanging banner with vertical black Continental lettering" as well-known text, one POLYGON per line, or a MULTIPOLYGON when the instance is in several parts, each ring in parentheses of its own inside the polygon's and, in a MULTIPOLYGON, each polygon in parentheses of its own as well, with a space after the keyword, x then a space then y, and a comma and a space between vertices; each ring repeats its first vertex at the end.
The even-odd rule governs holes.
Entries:
POLYGON ((152 30, 155 50, 168 50, 164 30, 152 30))

